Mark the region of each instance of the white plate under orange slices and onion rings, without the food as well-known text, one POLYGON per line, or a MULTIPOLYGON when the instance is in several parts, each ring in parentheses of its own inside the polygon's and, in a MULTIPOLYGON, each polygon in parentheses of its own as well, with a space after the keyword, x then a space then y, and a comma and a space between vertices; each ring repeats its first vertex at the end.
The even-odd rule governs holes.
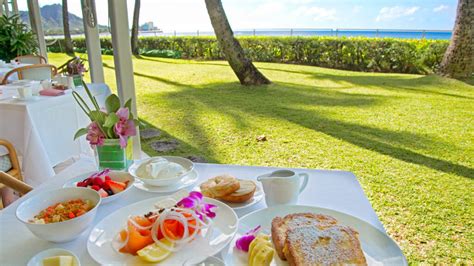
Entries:
MULTIPOLYGON (((167 197, 158 197, 137 202, 123 207, 105 217, 91 231, 87 241, 87 250, 91 257, 100 264, 113 265, 138 265, 144 262, 137 256, 123 254, 112 247, 113 238, 122 230, 130 215, 143 215, 154 209, 154 205, 167 197)), ((226 247, 237 232, 237 214, 227 205, 209 198, 204 198, 208 203, 218 206, 216 217, 213 219, 213 233, 210 241, 202 237, 188 244, 188 247, 172 254, 162 263, 166 265, 190 265, 214 256, 226 247)))

